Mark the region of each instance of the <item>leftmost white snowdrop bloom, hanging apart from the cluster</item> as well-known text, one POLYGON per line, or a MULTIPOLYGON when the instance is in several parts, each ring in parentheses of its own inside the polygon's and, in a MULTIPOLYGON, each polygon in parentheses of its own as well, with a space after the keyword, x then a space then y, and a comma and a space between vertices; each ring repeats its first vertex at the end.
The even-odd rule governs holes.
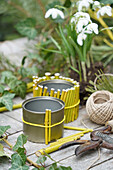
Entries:
POLYGON ((56 8, 49 9, 45 14, 45 18, 50 17, 50 15, 53 19, 57 18, 58 15, 60 15, 60 17, 64 19, 64 13, 56 8))

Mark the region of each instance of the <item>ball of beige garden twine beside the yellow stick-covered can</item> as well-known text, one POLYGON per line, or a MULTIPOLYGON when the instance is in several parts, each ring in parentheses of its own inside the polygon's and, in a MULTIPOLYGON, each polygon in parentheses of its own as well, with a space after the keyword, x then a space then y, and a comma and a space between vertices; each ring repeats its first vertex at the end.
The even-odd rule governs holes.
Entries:
POLYGON ((97 124, 105 124, 113 118, 113 93, 96 91, 86 102, 89 118, 97 124))

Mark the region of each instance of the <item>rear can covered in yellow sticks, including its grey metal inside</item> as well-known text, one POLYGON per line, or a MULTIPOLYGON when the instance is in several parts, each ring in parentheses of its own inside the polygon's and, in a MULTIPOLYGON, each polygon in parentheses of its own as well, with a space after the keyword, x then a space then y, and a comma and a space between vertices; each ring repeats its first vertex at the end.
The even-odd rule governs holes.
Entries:
POLYGON ((79 83, 74 79, 62 77, 59 73, 51 76, 51 73, 45 73, 46 79, 38 83, 38 87, 43 86, 38 96, 50 96, 61 99, 65 103, 65 123, 77 119, 79 111, 79 83), (48 88, 47 90, 45 88, 48 88))

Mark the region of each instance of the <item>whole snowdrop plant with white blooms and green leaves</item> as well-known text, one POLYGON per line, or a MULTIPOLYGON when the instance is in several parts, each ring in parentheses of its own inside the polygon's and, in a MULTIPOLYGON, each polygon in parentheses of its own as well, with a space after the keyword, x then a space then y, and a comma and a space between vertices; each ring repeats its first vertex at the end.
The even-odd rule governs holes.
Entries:
MULTIPOLYGON (((58 39, 49 36, 57 49, 49 51, 61 54, 64 59, 68 60, 69 67, 79 74, 80 82, 87 81, 86 68, 91 65, 90 48, 93 37, 99 34, 98 24, 94 23, 89 13, 90 8, 97 12, 97 18, 107 14, 112 15, 110 6, 101 6, 98 1, 80 0, 76 3, 77 11, 56 5, 49 9, 45 18, 51 17, 55 21, 58 17, 64 20, 63 24, 59 23, 56 32, 58 39)), ((47 49, 45 49, 47 50, 47 49)))

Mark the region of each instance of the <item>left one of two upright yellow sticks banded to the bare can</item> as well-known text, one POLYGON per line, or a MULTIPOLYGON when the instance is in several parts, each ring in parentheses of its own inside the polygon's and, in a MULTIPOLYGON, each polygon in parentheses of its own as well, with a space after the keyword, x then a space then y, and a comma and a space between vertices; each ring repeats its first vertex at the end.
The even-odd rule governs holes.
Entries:
POLYGON ((46 109, 45 112, 45 144, 48 145, 48 114, 49 114, 49 110, 46 109))

